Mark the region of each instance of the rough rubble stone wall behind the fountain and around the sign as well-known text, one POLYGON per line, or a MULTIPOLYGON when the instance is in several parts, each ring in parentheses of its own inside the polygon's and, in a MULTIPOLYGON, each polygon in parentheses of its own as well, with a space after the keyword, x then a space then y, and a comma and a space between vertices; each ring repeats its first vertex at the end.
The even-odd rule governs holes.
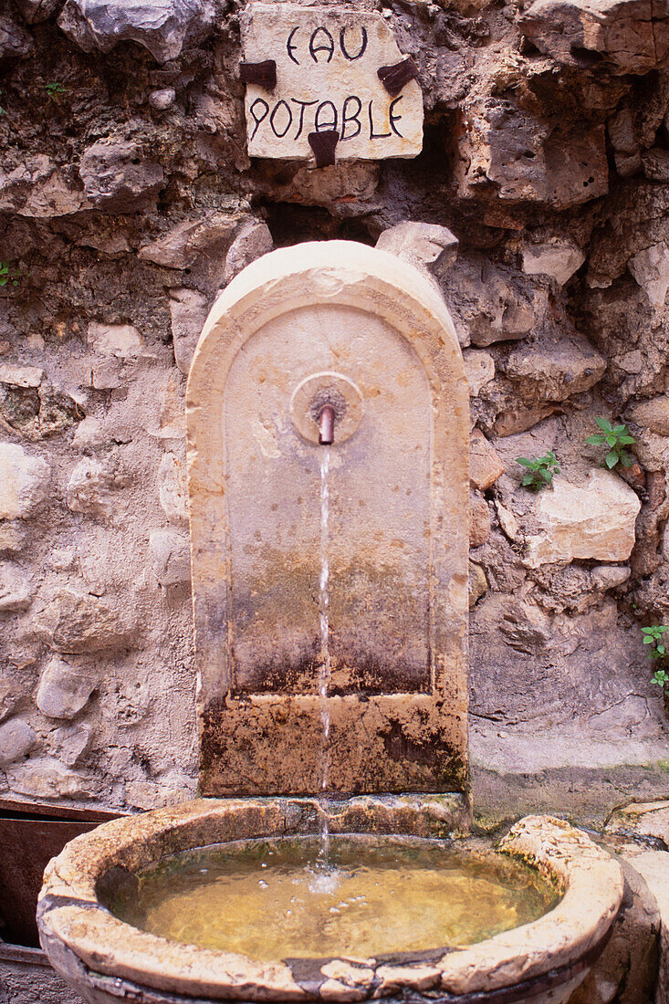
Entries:
POLYGON ((407 220, 459 240, 430 268, 475 426, 477 803, 588 817, 661 790, 640 626, 669 608, 666 19, 365 0, 419 66, 424 150, 315 170, 246 156, 243 6, 0 12, 0 796, 132 810, 195 791, 195 341, 272 246, 407 220), (630 424, 628 471, 584 445, 598 416, 630 424), (515 458, 546 450, 562 472, 533 495, 515 458))

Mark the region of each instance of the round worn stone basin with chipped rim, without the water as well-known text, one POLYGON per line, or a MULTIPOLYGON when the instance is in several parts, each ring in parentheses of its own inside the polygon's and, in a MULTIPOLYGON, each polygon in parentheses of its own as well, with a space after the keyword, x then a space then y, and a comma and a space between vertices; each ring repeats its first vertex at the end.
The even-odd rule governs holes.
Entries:
MULTIPOLYGON (((180 851, 316 833, 315 799, 199 799, 105 823, 48 865, 37 911, 53 968, 90 1004, 204 1001, 443 1001, 565 1004, 603 950, 620 908, 620 866, 583 832, 547 816, 516 823, 498 849, 564 892, 548 913, 465 947, 386 959, 256 962, 157 937, 116 918, 100 888, 180 851), (113 870, 115 869, 115 870, 113 870)), ((329 805, 332 834, 461 838, 458 796, 361 796, 329 805)))

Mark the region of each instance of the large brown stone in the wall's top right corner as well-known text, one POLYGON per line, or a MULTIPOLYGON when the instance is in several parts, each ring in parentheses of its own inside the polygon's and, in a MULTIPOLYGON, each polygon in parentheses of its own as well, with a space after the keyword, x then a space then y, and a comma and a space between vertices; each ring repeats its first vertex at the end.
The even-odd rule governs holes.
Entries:
POLYGON ((534 0, 518 27, 540 52, 582 69, 647 73, 669 54, 669 18, 648 0, 534 0))

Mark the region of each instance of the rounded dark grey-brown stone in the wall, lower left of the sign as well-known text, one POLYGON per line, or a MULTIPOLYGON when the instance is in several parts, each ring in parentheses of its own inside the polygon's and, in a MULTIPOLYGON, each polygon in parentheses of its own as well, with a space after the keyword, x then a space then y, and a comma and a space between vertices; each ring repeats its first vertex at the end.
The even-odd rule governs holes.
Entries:
POLYGON ((98 140, 88 147, 79 162, 79 175, 89 203, 110 213, 137 212, 165 185, 161 165, 144 158, 137 144, 125 140, 98 140))

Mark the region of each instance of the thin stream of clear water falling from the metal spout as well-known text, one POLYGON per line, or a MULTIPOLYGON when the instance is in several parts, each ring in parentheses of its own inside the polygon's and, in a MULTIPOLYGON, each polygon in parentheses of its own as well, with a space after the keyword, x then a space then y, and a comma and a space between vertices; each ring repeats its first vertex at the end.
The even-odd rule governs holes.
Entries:
POLYGON ((322 728, 322 744, 320 749, 320 769, 318 772, 318 788, 321 794, 320 804, 320 847, 318 857, 327 863, 329 857, 329 823, 327 820, 324 794, 329 783, 329 689, 330 657, 329 657, 329 447, 324 447, 320 456, 320 576, 318 579, 318 615, 320 621, 320 669, 318 671, 318 695, 320 697, 320 725, 322 728))

